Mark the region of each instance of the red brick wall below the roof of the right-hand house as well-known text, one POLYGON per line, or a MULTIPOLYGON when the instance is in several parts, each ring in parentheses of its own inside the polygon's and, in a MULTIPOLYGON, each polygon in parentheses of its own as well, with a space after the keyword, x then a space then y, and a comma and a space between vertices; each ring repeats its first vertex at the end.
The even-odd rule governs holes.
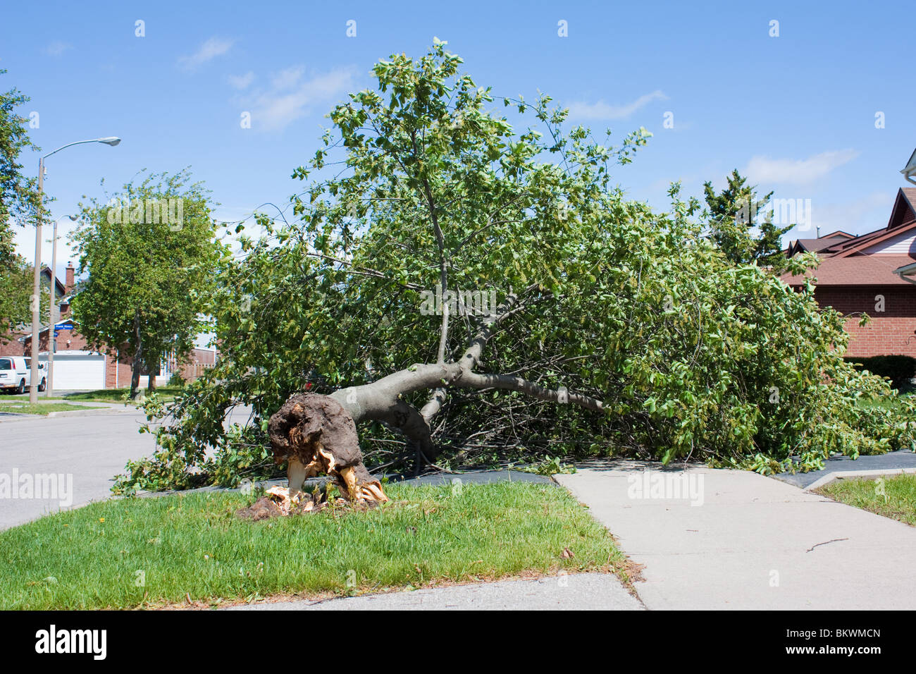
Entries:
POLYGON ((821 286, 814 293, 818 304, 832 306, 844 315, 849 333, 848 356, 916 357, 916 286, 821 286), (876 310, 877 295, 884 296, 884 311, 876 310), (871 321, 858 325, 861 313, 871 321))

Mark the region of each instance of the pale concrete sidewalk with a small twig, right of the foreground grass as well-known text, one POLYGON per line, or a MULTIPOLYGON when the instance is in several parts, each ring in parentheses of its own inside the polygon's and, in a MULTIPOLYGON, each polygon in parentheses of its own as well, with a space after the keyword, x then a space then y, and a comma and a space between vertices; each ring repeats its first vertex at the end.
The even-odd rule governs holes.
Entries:
POLYGON ((608 461, 556 476, 645 565, 647 608, 916 609, 916 528, 748 471, 660 469, 608 461), (658 498, 664 479, 701 503, 658 498))

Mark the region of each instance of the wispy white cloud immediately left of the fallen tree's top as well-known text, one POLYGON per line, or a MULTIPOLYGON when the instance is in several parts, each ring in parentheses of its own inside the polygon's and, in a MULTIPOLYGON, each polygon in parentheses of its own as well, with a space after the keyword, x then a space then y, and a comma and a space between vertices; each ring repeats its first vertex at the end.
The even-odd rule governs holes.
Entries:
POLYGON ((242 104, 251 110, 253 127, 282 129, 316 106, 331 105, 345 93, 353 91, 355 72, 352 66, 348 66, 306 78, 305 68, 294 66, 277 72, 271 78, 269 87, 245 96, 242 104))

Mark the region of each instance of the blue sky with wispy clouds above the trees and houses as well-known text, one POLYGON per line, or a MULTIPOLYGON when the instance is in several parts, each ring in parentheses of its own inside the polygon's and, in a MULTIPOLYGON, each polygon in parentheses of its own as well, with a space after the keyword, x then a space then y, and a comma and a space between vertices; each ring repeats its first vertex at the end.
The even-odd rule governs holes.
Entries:
MULTIPOLYGON (((221 204, 217 217, 237 220, 300 191, 291 171, 318 147, 333 104, 372 84, 374 62, 420 56, 436 36, 494 94, 540 89, 572 121, 618 139, 647 127, 649 146, 616 175, 632 198, 663 209, 669 182, 700 195, 737 168, 761 193, 810 199, 824 233, 861 233, 886 225, 907 184, 914 16, 907 2, 17 4, 0 25, 0 88, 31 96, 20 112, 38 113, 30 133, 45 152, 124 139, 49 159, 56 217, 83 194, 102 197, 103 178, 114 191, 144 168, 191 166, 221 204)), ((38 153, 24 159, 36 174, 38 153)), ((32 260, 34 229, 16 242, 32 260)))

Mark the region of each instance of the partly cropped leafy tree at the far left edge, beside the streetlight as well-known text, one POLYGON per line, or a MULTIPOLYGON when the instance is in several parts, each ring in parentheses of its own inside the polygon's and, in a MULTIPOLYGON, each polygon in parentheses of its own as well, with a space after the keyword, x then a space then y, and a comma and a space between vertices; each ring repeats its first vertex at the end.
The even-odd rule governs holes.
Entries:
POLYGON ((27 118, 15 111, 27 101, 15 88, 0 92, 0 336, 31 320, 31 268, 13 244, 13 227, 34 224, 38 212, 37 182, 22 175, 19 160, 23 150, 38 149, 28 138, 27 118))

